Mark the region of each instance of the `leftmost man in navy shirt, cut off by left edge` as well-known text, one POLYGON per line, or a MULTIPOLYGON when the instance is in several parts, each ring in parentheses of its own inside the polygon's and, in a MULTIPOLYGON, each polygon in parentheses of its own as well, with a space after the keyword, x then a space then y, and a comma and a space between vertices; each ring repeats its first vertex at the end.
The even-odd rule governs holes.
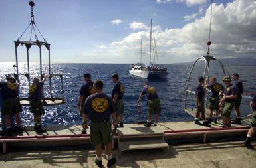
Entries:
POLYGON ((17 133, 22 133, 21 128, 21 103, 19 102, 19 84, 13 76, 6 76, 7 82, 0 82, 0 88, 3 96, 3 115, 5 116, 6 131, 4 135, 11 136, 11 113, 14 113, 17 133))

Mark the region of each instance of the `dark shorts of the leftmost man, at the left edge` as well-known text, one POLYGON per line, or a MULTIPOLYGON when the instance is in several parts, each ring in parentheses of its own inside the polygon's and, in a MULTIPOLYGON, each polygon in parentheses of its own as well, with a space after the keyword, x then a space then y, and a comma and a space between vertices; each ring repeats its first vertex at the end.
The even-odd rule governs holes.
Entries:
POLYGON ((21 112, 21 103, 19 102, 19 98, 7 98, 3 100, 3 114, 10 115, 12 113, 16 114, 21 112))

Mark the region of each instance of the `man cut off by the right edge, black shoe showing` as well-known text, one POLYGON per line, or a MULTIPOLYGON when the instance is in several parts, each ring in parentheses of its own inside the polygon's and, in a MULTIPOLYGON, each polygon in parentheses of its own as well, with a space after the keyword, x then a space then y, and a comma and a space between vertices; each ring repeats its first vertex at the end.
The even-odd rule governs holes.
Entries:
POLYGON ((249 129, 247 133, 247 138, 245 139, 246 147, 253 147, 253 145, 251 145, 251 137, 253 137, 256 131, 256 94, 255 96, 253 96, 253 100, 251 100, 250 106, 253 113, 251 116, 251 128, 249 129))

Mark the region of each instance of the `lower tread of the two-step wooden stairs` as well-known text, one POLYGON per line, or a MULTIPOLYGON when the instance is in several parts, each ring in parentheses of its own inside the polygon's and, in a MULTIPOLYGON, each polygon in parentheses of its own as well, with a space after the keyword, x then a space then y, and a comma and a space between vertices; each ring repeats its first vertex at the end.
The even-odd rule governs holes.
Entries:
POLYGON ((169 145, 163 139, 151 139, 142 141, 120 141, 118 143, 120 151, 136 150, 136 149, 156 149, 165 148, 169 145))

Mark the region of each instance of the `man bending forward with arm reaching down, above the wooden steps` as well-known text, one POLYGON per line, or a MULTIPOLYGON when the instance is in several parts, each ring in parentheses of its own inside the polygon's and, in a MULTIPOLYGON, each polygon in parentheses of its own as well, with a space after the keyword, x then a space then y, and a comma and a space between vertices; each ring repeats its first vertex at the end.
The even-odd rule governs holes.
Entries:
POLYGON ((148 84, 143 86, 142 92, 140 93, 139 99, 137 100, 138 104, 142 96, 146 94, 148 98, 148 120, 147 123, 144 124, 146 127, 157 126, 159 121, 159 115, 161 113, 161 104, 158 94, 156 93, 156 88, 154 86, 149 86, 148 84), (151 115, 154 113, 155 122, 151 124, 151 115))

